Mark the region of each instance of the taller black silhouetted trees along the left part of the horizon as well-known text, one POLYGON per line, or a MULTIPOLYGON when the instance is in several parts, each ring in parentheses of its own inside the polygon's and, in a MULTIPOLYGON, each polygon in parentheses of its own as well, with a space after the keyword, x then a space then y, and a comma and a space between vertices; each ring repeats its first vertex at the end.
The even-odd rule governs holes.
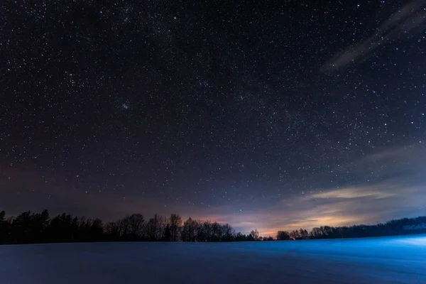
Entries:
MULTIPOLYGON (((255 229, 250 234, 236 233, 229 224, 188 218, 178 214, 155 214, 146 220, 142 214, 129 214, 115 222, 60 214, 50 217, 23 212, 6 218, 0 212, 0 244, 33 244, 80 241, 258 241, 255 229)), ((272 240, 272 238, 270 238, 272 240)))

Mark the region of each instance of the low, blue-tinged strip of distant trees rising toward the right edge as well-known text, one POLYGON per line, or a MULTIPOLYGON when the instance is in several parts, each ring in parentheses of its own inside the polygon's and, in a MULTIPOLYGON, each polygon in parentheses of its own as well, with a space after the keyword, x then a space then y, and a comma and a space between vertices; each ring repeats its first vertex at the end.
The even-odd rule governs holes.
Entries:
POLYGON ((305 229, 278 231, 276 239, 341 239, 404 234, 426 234, 426 217, 393 219, 376 225, 320 226, 311 231, 305 229))

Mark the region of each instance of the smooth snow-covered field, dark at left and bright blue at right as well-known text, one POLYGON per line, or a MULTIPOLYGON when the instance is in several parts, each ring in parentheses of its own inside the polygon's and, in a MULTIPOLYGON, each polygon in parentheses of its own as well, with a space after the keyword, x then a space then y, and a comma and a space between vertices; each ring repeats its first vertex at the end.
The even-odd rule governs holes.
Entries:
POLYGON ((0 283, 426 283, 426 236, 0 246, 0 283))

